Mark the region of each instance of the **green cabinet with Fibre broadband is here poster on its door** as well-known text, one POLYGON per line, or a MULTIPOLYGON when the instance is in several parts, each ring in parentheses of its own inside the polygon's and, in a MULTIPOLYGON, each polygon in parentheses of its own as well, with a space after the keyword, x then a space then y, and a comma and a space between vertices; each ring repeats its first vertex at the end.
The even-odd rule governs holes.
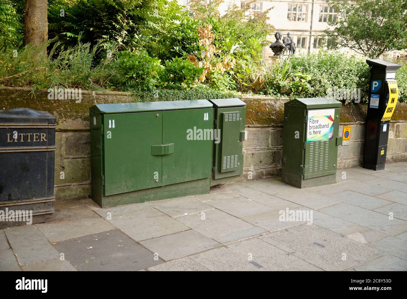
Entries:
POLYGON ((284 104, 283 182, 300 188, 335 183, 341 105, 332 98, 284 104))

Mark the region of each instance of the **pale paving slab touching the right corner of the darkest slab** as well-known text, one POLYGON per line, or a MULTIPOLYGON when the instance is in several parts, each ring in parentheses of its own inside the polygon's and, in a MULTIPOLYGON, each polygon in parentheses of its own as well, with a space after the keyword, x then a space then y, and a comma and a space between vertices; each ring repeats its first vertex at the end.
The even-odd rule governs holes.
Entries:
POLYGON ((141 241, 141 245, 157 253, 165 261, 182 258, 207 249, 220 246, 212 239, 196 232, 187 230, 167 236, 141 241))

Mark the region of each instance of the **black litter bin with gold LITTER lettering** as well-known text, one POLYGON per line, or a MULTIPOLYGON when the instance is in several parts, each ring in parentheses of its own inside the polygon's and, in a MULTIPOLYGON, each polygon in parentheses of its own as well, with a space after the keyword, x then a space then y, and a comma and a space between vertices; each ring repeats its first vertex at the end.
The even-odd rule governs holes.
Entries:
POLYGON ((45 111, 0 111, 0 228, 52 217, 55 127, 45 111))

